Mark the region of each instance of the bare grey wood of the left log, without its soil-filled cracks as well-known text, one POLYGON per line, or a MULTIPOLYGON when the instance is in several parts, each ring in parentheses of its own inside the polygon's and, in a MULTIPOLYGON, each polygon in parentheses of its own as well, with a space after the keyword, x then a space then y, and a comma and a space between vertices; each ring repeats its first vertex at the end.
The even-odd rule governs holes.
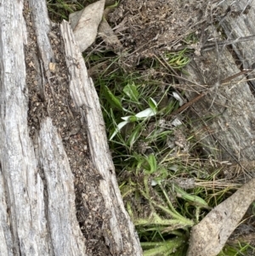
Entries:
MULTIPOLYGON (((50 117, 40 120, 37 139, 29 136, 24 46, 27 27, 22 11, 31 11, 37 34, 37 63, 50 85, 54 59, 48 38, 51 22, 45 1, 0 1, 0 255, 87 255, 77 222, 73 174, 61 137, 50 117), (28 8, 29 7, 29 8, 28 8), (40 167, 40 168, 39 168, 40 167), (40 169, 43 168, 43 174, 40 169)), ((87 122, 90 153, 103 179, 99 193, 111 213, 105 242, 115 255, 142 255, 139 238, 123 206, 111 161, 105 123, 92 80, 67 22, 61 25, 72 100, 87 122), (79 61, 79 66, 72 60, 79 61), (89 105, 90 111, 82 106, 89 105)))

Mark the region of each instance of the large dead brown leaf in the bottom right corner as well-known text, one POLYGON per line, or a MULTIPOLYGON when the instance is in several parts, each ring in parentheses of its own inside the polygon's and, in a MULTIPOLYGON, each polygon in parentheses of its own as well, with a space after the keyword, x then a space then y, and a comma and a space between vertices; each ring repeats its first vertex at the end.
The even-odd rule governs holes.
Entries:
POLYGON ((255 179, 243 185, 191 229, 187 256, 215 256, 255 200, 255 179))

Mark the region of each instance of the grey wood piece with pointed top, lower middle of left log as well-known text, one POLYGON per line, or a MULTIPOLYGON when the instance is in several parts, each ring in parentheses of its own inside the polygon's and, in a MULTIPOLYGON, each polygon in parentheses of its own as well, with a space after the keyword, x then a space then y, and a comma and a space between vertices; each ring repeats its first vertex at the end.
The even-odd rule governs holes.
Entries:
POLYGON ((53 249, 48 255, 86 255, 86 241, 77 223, 73 175, 62 139, 49 117, 41 123, 36 153, 46 190, 41 187, 44 201, 38 201, 47 213, 40 222, 48 226, 53 249))

